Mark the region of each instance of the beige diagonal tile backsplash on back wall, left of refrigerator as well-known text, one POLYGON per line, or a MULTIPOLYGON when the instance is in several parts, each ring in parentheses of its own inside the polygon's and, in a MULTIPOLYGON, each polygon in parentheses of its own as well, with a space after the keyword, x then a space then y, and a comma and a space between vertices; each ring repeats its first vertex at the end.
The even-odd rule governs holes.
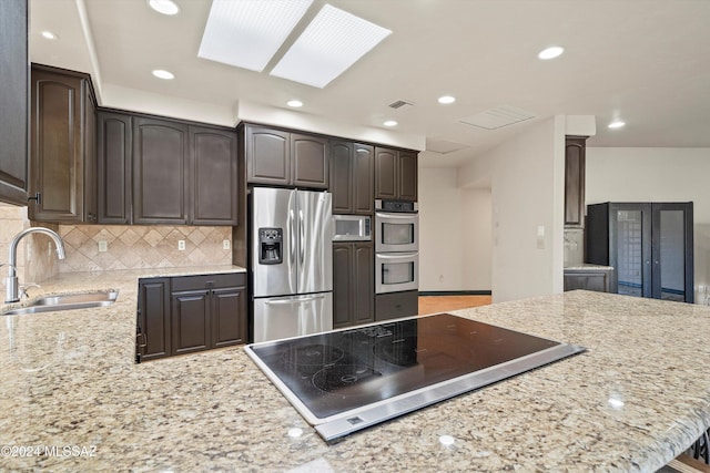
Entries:
POLYGON ((67 248, 60 273, 232 264, 232 250, 223 249, 231 227, 60 225, 59 235, 67 248))

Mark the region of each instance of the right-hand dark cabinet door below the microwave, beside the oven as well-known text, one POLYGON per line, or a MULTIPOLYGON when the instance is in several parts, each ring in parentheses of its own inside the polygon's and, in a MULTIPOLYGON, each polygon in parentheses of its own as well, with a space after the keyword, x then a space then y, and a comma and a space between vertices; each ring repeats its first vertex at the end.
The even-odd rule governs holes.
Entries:
POLYGON ((372 243, 353 244, 353 323, 375 320, 375 255, 372 243))

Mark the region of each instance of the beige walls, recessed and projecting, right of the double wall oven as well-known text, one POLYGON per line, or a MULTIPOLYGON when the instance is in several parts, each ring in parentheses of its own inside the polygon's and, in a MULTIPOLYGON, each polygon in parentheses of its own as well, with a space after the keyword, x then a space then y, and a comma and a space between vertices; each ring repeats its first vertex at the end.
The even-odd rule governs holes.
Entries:
POLYGON ((556 116, 460 169, 419 171, 422 290, 457 289, 437 277, 460 267, 462 287, 486 287, 496 302, 562 291, 565 126, 556 116), (459 203, 449 204, 453 198, 459 203), (452 218, 455 209, 460 223, 452 218), (453 238, 445 247, 442 235, 455 230, 462 246, 452 248, 453 238), (447 263, 452 255, 460 257, 447 263))

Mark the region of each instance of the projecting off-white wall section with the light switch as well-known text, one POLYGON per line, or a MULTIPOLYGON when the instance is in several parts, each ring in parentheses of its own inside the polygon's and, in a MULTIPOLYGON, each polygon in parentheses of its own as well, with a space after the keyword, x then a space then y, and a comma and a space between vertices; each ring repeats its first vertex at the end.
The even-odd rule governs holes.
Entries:
POLYGON ((493 150, 494 302, 562 291, 565 120, 493 150), (540 235, 542 233, 542 235, 540 235))

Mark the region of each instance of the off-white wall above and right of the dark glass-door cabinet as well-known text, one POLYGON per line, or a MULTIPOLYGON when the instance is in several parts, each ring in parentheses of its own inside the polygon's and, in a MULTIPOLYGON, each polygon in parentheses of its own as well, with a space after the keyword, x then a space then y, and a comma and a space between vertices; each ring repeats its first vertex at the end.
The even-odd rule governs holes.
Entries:
POLYGON ((696 302, 710 284, 710 148, 587 147, 586 202, 693 202, 696 302))

